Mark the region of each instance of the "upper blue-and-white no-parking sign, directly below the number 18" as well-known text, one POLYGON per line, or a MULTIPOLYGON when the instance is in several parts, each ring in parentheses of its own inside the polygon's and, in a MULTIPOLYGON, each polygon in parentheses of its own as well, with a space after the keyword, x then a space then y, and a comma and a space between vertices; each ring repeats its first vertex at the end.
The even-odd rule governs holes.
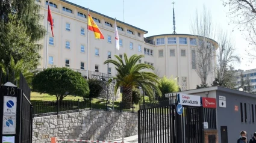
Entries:
POLYGON ((4 115, 16 115, 17 97, 4 96, 4 115))

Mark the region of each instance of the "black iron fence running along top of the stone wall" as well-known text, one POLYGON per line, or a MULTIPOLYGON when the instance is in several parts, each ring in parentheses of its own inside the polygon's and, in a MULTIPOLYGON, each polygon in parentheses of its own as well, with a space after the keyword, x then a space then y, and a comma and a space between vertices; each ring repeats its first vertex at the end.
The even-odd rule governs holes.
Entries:
POLYGON ((40 117, 46 115, 58 115, 69 112, 80 112, 89 110, 131 112, 136 113, 139 105, 131 104, 131 109, 124 109, 122 102, 114 102, 105 99, 77 99, 77 100, 58 100, 58 101, 33 101, 33 116, 40 117), (113 107, 114 106, 114 107, 113 107))

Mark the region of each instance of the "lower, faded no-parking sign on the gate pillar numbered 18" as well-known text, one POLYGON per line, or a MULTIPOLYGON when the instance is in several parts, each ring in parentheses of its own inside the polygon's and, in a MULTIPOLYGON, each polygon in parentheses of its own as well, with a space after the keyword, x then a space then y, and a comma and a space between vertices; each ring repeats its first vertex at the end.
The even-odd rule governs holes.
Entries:
POLYGON ((16 115, 4 115, 2 120, 2 134, 10 135, 16 133, 16 115))

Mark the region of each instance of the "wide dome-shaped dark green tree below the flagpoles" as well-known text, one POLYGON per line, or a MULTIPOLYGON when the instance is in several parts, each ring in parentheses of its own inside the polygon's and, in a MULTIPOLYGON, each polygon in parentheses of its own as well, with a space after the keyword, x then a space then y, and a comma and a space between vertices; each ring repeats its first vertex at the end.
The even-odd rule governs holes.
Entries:
POLYGON ((67 95, 89 96, 89 86, 80 73, 69 68, 48 68, 34 76, 33 90, 63 100, 67 95))

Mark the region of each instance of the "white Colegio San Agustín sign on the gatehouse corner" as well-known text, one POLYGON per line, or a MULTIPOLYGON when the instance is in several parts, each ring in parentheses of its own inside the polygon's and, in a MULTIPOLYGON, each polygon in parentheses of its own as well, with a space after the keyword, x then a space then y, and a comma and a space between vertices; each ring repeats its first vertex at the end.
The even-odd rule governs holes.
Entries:
POLYGON ((201 106, 201 97, 180 93, 180 104, 188 106, 201 106))

